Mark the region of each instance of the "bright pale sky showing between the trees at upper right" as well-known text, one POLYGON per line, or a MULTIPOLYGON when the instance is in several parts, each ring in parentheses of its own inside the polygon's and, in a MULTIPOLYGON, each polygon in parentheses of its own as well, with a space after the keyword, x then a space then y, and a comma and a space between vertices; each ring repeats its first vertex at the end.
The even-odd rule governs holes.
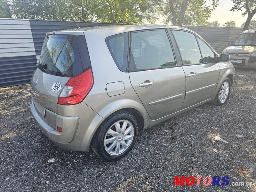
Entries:
MULTIPOLYGON (((211 6, 211 0, 206 0, 206 2, 207 5, 211 6)), ((218 21, 221 27, 222 24, 226 23, 227 21, 233 20, 236 22, 236 27, 241 27, 247 18, 247 16, 242 16, 244 11, 230 11, 233 5, 231 0, 219 0, 219 3, 220 5, 212 12, 211 18, 208 21, 218 21)), ((256 15, 252 18, 252 20, 256 20, 256 15)), ((164 24, 163 17, 160 17, 155 24, 164 24)))

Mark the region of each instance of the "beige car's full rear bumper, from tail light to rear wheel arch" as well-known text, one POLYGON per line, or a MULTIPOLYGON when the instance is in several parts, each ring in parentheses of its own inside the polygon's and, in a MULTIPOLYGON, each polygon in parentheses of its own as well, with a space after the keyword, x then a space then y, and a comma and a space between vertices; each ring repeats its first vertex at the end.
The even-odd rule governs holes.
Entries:
POLYGON ((44 117, 37 113, 34 104, 30 105, 36 124, 56 146, 72 151, 88 151, 92 137, 104 119, 84 102, 72 106, 58 105, 58 108, 56 125, 52 127, 53 124, 47 124, 44 117), (62 128, 61 133, 57 132, 57 126, 62 128))

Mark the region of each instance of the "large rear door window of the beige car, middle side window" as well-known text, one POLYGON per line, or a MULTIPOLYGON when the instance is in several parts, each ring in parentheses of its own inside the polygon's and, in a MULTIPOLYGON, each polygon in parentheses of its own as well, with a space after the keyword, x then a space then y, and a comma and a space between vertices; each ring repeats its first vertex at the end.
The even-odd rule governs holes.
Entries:
POLYGON ((176 66, 165 30, 132 33, 129 71, 176 66))

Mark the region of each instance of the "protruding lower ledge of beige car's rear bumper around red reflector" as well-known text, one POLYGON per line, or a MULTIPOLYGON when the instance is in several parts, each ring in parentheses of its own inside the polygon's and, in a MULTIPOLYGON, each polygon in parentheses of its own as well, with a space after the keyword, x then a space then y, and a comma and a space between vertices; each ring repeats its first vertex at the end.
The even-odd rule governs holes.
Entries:
POLYGON ((31 103, 30 109, 36 124, 50 140, 64 144, 69 143, 74 139, 79 123, 78 116, 66 117, 56 114, 56 128, 57 126, 62 128, 62 132, 58 132, 55 127, 50 126, 43 120, 43 118, 37 113, 33 103, 31 103))

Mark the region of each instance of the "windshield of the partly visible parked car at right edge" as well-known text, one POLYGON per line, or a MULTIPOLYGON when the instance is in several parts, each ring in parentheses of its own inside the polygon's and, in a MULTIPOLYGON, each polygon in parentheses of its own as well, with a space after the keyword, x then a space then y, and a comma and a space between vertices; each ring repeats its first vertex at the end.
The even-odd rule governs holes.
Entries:
POLYGON ((240 34, 233 46, 256 46, 256 33, 243 33, 240 34))

